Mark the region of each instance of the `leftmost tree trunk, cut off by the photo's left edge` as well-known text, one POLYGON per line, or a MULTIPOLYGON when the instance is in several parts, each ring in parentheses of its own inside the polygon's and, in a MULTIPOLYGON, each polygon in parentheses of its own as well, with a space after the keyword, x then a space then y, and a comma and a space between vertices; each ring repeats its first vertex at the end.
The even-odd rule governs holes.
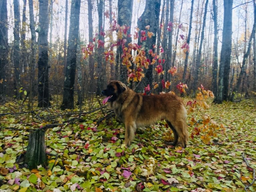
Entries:
MULTIPOLYGON (((0 96, 5 95, 8 56, 7 1, 0 1, 0 96)), ((1 100, 1 99, 0 99, 1 100)))

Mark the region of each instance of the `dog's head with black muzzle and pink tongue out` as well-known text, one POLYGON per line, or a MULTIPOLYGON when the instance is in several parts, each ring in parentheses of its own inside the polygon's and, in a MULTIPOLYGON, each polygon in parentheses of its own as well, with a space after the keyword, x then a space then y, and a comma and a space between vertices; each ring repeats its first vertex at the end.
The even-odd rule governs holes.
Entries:
POLYGON ((107 96, 103 100, 103 104, 115 101, 126 89, 126 85, 121 81, 110 81, 110 83, 107 85, 107 88, 101 91, 104 96, 107 96))

